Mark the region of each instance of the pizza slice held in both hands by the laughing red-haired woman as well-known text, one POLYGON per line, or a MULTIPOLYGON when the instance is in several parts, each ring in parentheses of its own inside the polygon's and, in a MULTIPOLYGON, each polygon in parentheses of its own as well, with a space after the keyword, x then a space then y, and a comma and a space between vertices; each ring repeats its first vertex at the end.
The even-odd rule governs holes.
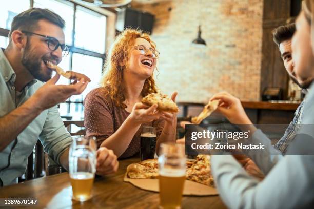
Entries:
POLYGON ((167 95, 161 93, 150 93, 145 96, 142 103, 148 106, 158 105, 158 110, 176 113, 179 111, 178 106, 167 95))

